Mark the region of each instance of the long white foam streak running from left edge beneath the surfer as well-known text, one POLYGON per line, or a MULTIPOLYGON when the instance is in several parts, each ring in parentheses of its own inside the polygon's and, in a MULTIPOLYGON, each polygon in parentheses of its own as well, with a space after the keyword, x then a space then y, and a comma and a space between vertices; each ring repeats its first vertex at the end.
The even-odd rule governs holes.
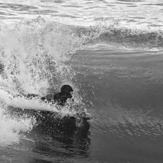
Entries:
POLYGON ((76 105, 76 103, 74 104, 74 106, 72 106, 71 101, 69 101, 65 107, 62 107, 62 109, 60 109, 59 106, 51 103, 42 102, 39 98, 26 99, 25 97, 18 95, 14 97, 12 94, 7 92, 6 90, 3 90, 2 88, 0 89, 0 102, 7 106, 20 108, 22 110, 26 109, 36 111, 50 111, 53 113, 58 113, 60 117, 64 117, 66 115, 75 115, 76 112, 79 111, 79 108, 83 109, 82 106, 79 107, 76 105), (76 106, 77 108, 75 108, 76 106))

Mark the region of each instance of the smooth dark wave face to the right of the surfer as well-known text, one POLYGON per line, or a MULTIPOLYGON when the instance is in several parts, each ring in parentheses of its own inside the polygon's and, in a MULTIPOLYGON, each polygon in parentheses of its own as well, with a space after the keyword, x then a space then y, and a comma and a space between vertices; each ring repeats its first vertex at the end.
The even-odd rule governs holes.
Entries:
POLYGON ((91 156, 95 160, 161 162, 162 60, 161 51, 101 45, 72 57, 79 94, 93 117, 91 156))

